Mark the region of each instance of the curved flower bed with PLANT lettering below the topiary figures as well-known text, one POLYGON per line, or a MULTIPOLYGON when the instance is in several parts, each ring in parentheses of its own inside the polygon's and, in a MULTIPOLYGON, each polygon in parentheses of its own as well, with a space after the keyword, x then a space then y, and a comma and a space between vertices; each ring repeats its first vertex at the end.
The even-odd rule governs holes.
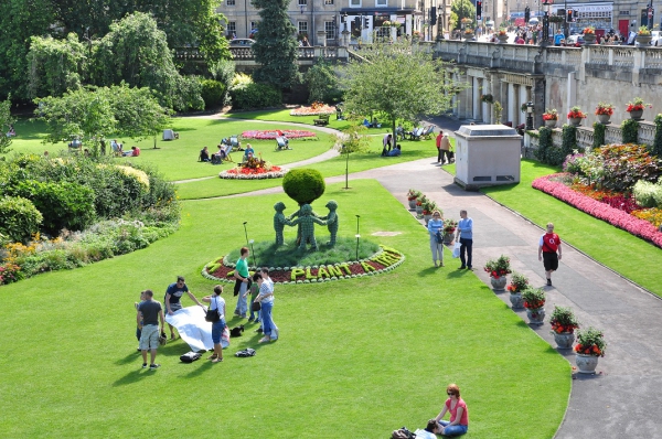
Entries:
MULTIPOLYGON (((405 256, 398 250, 385 246, 380 247, 382 247, 381 250, 370 258, 357 261, 312 267, 269 267, 269 277, 275 283, 325 282, 378 275, 404 263, 405 256)), ((223 257, 205 265, 202 276, 211 280, 234 283, 234 264, 223 257), (207 267, 213 268, 212 272, 209 272, 207 267)))

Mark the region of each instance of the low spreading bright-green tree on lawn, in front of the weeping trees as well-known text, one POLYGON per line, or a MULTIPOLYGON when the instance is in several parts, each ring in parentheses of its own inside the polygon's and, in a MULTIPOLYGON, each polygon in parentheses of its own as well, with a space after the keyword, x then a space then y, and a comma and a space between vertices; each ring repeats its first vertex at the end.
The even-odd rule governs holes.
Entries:
POLYGON ((46 142, 57 143, 73 136, 92 141, 94 157, 108 136, 130 138, 154 136, 169 122, 163 108, 149 88, 130 88, 126 84, 96 90, 78 89, 62 97, 35 99, 38 116, 46 122, 46 142))

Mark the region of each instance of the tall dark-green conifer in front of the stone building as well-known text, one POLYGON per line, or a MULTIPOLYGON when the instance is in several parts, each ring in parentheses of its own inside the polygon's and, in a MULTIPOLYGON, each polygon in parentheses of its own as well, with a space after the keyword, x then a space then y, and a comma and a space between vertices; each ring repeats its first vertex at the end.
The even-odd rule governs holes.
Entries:
POLYGON ((259 9, 259 32, 253 44, 255 61, 260 67, 253 77, 284 89, 300 83, 297 65, 298 46, 296 28, 288 14, 290 0, 253 0, 259 9))

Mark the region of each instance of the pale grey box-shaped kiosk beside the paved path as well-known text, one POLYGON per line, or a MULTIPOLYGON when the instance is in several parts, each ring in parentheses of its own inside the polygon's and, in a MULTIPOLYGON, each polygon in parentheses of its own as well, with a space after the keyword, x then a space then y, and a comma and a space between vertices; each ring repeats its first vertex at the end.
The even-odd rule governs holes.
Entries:
POLYGON ((462 125, 456 132, 455 182, 467 191, 520 182, 522 136, 505 125, 462 125))

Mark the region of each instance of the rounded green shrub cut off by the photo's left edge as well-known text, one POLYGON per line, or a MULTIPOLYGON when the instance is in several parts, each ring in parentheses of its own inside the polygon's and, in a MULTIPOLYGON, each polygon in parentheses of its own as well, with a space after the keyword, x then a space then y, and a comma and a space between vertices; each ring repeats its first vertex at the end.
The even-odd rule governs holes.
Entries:
POLYGON ((0 234, 11 240, 25 243, 39 232, 42 214, 30 200, 20 196, 0 199, 0 234))

